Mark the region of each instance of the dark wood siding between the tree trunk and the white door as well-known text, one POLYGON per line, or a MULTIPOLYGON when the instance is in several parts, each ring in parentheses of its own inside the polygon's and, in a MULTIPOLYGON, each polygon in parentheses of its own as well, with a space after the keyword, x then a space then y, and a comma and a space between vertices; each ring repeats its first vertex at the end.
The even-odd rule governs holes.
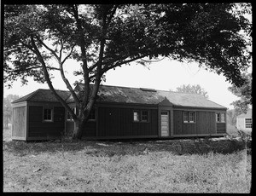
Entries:
MULTIPOLYGON (((136 108, 137 109, 137 108, 136 108)), ((143 108, 144 110, 145 108, 143 108)), ((99 107, 98 136, 158 136, 157 110, 148 109, 149 122, 133 122, 133 108, 99 107)))

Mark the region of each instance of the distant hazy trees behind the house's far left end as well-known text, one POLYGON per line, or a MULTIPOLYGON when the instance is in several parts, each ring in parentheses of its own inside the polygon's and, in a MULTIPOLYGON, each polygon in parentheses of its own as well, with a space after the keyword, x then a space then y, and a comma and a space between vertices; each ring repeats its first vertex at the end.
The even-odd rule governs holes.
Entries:
POLYGON ((19 99, 19 95, 7 95, 3 98, 3 124, 5 128, 8 128, 8 124, 12 119, 12 106, 11 102, 19 99))

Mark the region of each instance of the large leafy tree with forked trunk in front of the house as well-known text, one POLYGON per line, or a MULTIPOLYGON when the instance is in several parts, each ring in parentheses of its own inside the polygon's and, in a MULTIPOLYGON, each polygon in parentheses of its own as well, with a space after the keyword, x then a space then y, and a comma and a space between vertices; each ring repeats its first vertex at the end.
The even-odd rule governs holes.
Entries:
POLYGON ((4 81, 46 82, 73 117, 73 138, 80 138, 104 74, 133 61, 196 61, 241 85, 251 58, 251 24, 242 12, 250 14, 250 4, 5 5, 4 81), (81 97, 66 78, 68 59, 81 65, 74 72, 84 83, 81 97), (78 115, 55 92, 53 71, 60 72, 78 115))

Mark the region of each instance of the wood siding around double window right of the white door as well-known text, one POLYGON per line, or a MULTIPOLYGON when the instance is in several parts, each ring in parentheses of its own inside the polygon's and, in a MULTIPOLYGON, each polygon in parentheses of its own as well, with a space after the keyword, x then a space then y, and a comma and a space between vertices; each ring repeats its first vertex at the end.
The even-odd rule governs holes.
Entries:
POLYGON ((215 134, 215 112, 195 112, 195 123, 183 123, 183 111, 174 110, 174 135, 215 134))

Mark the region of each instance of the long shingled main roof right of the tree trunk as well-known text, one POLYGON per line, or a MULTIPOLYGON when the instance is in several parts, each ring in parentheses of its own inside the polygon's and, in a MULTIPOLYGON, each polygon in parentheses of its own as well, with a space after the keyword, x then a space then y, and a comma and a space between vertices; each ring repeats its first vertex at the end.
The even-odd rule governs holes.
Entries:
MULTIPOLYGON (((78 84, 76 89, 80 92, 84 89, 84 84, 78 84)), ((167 90, 130 88, 120 86, 101 85, 98 92, 97 101, 137 103, 137 104, 159 104, 166 99, 173 105, 183 107, 211 107, 226 109, 213 101, 207 100, 203 95, 178 93, 167 90)), ((70 96, 68 101, 73 101, 70 96)))

